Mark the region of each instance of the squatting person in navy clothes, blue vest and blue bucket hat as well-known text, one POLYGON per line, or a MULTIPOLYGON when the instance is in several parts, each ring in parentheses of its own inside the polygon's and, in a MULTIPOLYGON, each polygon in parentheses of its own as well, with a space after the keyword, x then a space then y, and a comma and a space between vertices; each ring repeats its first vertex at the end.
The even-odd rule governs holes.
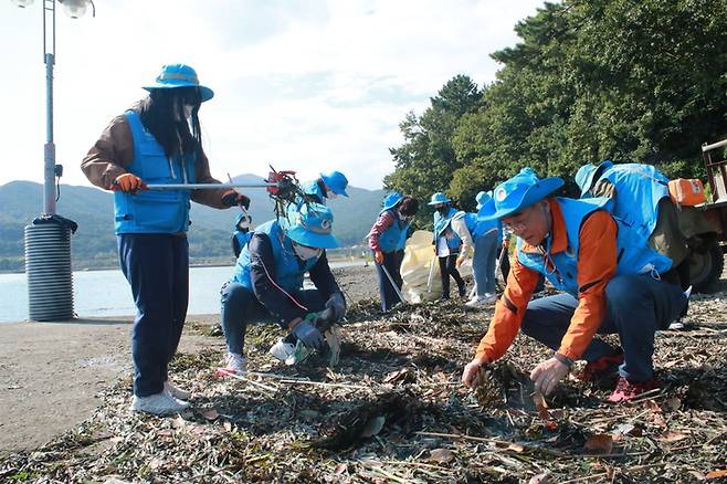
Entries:
POLYGON ((277 220, 255 229, 238 257, 234 275, 221 291, 226 371, 246 371, 243 346, 247 323, 276 322, 287 330, 288 335, 271 348, 275 357, 285 360, 293 356, 298 341, 308 351, 323 345, 324 336, 313 324, 316 313, 326 311, 333 320, 345 316, 346 302, 326 257, 326 249, 339 245, 331 233, 333 221, 330 209, 308 203, 301 207, 287 229, 277 220), (315 290, 303 290, 306 272, 315 290))

